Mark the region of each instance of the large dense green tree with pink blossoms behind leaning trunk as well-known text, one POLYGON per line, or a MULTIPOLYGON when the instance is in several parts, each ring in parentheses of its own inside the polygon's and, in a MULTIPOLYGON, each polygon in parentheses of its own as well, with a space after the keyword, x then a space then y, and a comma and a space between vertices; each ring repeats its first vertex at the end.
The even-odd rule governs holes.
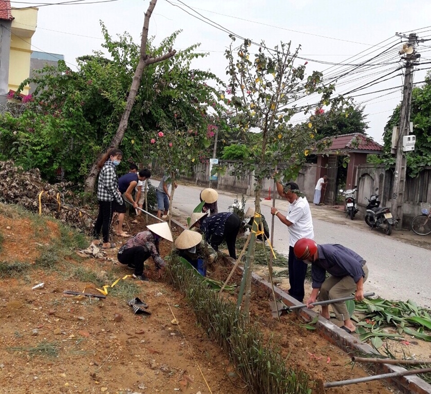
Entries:
MULTIPOLYGON (((59 168, 71 181, 82 182, 87 176, 116 135, 140 56, 139 46, 128 34, 114 39, 103 24, 102 32, 110 60, 100 52, 83 56, 77 71, 59 62, 22 84, 36 84, 34 100, 21 105, 22 111, 0 116, 0 155, 5 159, 12 158, 25 168, 38 167, 45 178, 53 178, 59 168)), ((166 53, 178 34, 158 47, 149 41, 148 52, 155 57, 166 53)), ((212 73, 191 68, 195 58, 205 56, 197 48, 193 45, 144 69, 120 146, 128 160, 119 172, 128 170, 128 161, 151 159, 148 141, 160 125, 207 129, 214 122, 207 111, 218 105, 210 81, 214 81, 211 85, 219 81, 212 73)), ((214 136, 209 140, 214 141, 214 136)), ((209 152, 202 154, 208 157, 209 152)))

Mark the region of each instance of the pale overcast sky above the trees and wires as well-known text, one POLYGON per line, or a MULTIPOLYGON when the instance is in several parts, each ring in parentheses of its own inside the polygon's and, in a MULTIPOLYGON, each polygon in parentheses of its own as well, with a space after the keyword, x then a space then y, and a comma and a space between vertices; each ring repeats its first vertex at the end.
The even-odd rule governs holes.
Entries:
MULTIPOLYGON (((73 0, 47 0, 47 3, 67 1, 73 0)), ((34 5, 43 4, 36 3, 36 0, 29 2, 34 5)), ((239 36, 251 38, 254 42, 264 40, 268 47, 273 47, 280 41, 292 41, 293 46, 301 45, 300 55, 310 59, 307 70, 324 71, 324 77, 328 78, 349 71, 340 79, 337 93, 358 89, 367 82, 375 83, 368 89, 362 88, 351 95, 374 92, 355 97, 355 102, 366 105, 366 120, 370 127, 367 133, 377 142, 382 142, 383 128, 393 108, 401 100, 401 89, 376 92, 395 88, 403 83, 403 76, 399 75, 402 71, 396 71, 396 68, 403 64, 400 63, 398 54, 402 39, 395 33, 408 35, 410 32, 416 32, 419 38, 431 38, 429 0, 170 2, 158 0, 151 18, 149 33, 155 37, 155 43, 175 30, 182 30, 175 49, 201 43, 201 51, 208 52, 209 55, 196 61, 194 67, 211 70, 223 80, 226 80, 227 66, 223 52, 231 42, 228 33, 185 11, 207 22, 221 25, 239 36), (379 55, 383 51, 385 53, 379 55), (361 64, 376 55, 379 56, 370 63, 379 64, 353 70, 355 66, 351 65, 361 64), (343 65, 337 65, 339 63, 343 65), (391 71, 393 72, 390 73, 391 71), (379 82, 379 78, 390 79, 379 82)), ((29 5, 23 4, 22 1, 11 4, 16 8, 29 5)), ((127 31, 139 43, 144 12, 148 5, 149 0, 82 0, 71 5, 42 6, 38 12, 38 28, 32 38, 32 49, 63 54, 68 65, 76 69, 78 56, 102 50, 99 21, 105 23, 112 36, 127 31), (85 4, 94 2, 100 3, 85 4)), ((421 63, 431 62, 431 41, 420 43, 417 51, 422 55, 421 63)), ((431 63, 419 64, 417 68, 425 69, 429 66, 431 63)), ((426 70, 417 71, 414 81, 423 81, 425 73, 426 70)))

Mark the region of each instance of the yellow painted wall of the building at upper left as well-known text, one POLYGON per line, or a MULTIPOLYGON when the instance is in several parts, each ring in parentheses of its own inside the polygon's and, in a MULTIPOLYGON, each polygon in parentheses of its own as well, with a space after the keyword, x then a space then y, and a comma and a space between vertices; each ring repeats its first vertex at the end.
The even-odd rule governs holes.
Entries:
MULTIPOLYGON (((19 10, 12 8, 9 89, 16 90, 30 75, 31 37, 36 31, 38 8, 19 10)), ((28 94, 29 86, 22 91, 28 94)))

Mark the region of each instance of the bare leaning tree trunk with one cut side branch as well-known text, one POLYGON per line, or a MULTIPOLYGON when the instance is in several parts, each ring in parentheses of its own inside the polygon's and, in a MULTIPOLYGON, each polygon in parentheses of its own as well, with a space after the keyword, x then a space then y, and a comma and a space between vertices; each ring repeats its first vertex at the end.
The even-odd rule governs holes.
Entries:
MULTIPOLYGON (((141 84, 142 73, 144 71, 144 68, 149 64, 154 64, 154 63, 158 63, 163 60, 166 60, 174 56, 176 53, 176 51, 173 50, 172 48, 164 55, 158 56, 158 57, 149 57, 146 53, 149 19, 151 18, 151 15, 154 11, 154 7, 156 7, 156 3, 157 3, 157 0, 151 0, 151 3, 149 3, 148 9, 145 12, 144 26, 142 28, 139 63, 135 70, 132 86, 130 86, 129 95, 127 97, 126 108, 124 110, 123 115, 121 116, 121 120, 120 120, 120 124, 118 125, 117 132, 115 133, 111 143, 109 144, 110 148, 118 148, 118 146, 121 144, 121 141, 123 140, 124 133, 127 129, 130 112, 132 112, 133 105, 135 104, 136 95, 138 94, 138 88, 139 88, 139 85, 141 84)), ((99 170, 97 168, 97 161, 92 164, 84 183, 85 184, 84 191, 87 197, 88 195, 92 194, 92 192, 94 191, 96 177, 99 173, 99 170)))

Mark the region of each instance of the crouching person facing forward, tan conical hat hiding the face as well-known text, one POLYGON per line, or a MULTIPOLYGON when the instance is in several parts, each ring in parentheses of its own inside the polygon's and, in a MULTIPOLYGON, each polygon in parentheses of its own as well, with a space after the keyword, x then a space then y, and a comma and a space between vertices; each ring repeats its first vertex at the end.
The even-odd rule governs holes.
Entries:
POLYGON ((205 276, 205 261, 213 263, 217 252, 207 244, 197 231, 184 230, 175 240, 178 255, 187 260, 196 270, 205 276))

